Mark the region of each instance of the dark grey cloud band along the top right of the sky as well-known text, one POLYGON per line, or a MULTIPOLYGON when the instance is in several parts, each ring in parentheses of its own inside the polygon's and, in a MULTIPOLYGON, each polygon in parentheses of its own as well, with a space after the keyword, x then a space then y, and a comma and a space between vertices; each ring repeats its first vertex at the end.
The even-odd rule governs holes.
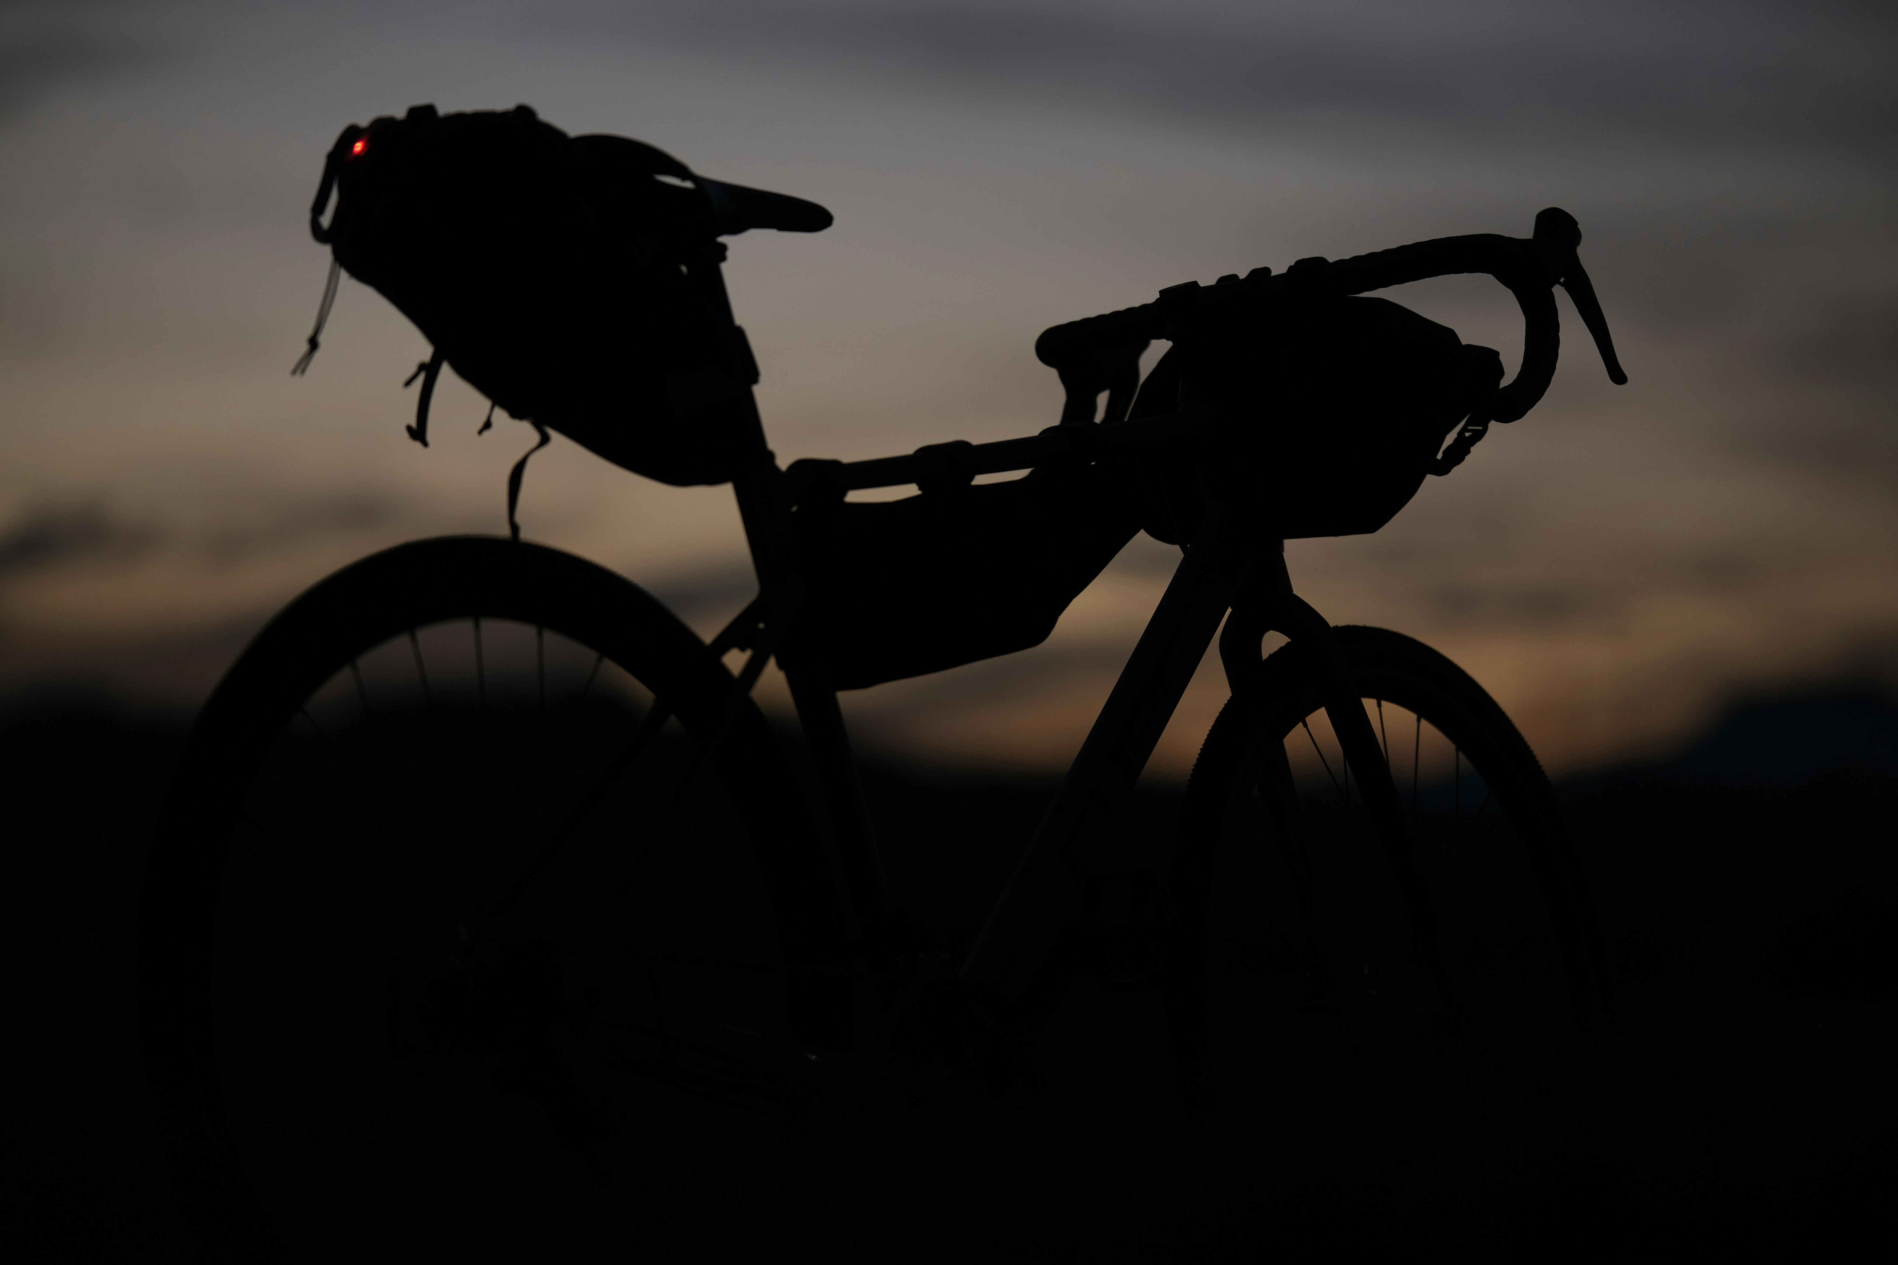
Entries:
POLYGON ((1898 19, 1858 4, 700 0, 549 21, 1239 125, 1349 112, 1881 150, 1898 125, 1898 19))

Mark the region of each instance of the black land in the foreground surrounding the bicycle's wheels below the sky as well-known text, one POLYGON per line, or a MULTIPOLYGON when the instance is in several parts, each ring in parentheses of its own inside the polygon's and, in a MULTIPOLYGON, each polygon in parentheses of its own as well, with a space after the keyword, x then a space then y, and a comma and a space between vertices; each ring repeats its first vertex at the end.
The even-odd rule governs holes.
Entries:
MULTIPOLYGON (((254 1189, 241 1163, 207 1174, 150 1125, 133 859, 175 742, 167 723, 84 707, 0 730, 13 1225, 44 1227, 57 1256, 222 1240, 334 1259, 400 1240, 955 1259, 1266 1252, 1310 1235, 1528 1248, 1646 1233, 1657 1216, 1822 1235, 1889 1197, 1898 715, 1873 696, 1740 711, 1678 761, 1564 789, 1594 846, 1615 977, 1611 1013, 1573 1041, 1355 1041, 1287 1017, 1245 1092, 1182 1113, 1158 994, 1089 977, 1048 1037, 1038 1096, 928 1070, 826 1109, 628 1089, 598 1166, 533 1111, 499 1113, 450 1189, 418 1174, 380 1204, 254 1189)), ((1046 787, 884 768, 869 791, 881 819, 926 823, 905 901, 955 950, 1019 842, 991 823, 1023 831, 1046 787), (958 838, 983 846, 958 853, 958 838)), ((1169 808, 1154 793, 1133 812, 1162 823, 1169 808)))

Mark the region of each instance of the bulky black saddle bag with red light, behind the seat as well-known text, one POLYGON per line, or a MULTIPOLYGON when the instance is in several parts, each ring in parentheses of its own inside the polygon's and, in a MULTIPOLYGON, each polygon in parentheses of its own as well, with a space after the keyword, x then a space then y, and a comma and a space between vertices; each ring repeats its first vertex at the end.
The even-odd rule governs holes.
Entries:
POLYGON ((683 163, 528 106, 418 106, 344 131, 315 214, 330 176, 319 239, 476 391, 649 478, 731 478, 731 381, 757 374, 729 313, 695 309, 721 247, 683 163))

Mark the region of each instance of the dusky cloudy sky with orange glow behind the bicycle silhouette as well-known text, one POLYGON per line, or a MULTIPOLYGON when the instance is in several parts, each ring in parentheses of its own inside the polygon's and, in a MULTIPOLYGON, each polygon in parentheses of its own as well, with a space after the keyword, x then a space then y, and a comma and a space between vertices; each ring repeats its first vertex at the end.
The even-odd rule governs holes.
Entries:
MULTIPOLYGON (((735 239, 772 448, 875 457, 1059 415, 1059 321, 1258 264, 1583 228, 1628 370, 1564 302, 1545 402, 1298 590, 1461 662, 1556 770, 1665 751, 1735 694, 1898 681, 1898 9, 955 0, 0 2, 0 698, 190 707, 302 588, 374 548, 505 531, 514 423, 326 267, 342 125, 533 104, 569 133, 829 207, 735 239)), ((1520 347, 1484 279, 1386 292, 1520 347)), ((702 632, 748 597, 729 489, 556 440, 530 539, 702 632)), ((1034 651, 847 696, 958 768, 1072 759, 1177 552, 1137 539, 1034 651)), ((782 707, 782 687, 763 685, 782 707)), ((1207 664, 1152 762, 1222 702, 1207 664)))

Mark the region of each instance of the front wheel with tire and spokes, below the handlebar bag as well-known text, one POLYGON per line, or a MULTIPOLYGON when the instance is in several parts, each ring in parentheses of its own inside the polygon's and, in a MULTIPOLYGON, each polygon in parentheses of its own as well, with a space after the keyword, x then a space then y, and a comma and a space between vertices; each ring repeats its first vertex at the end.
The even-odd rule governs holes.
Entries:
MULTIPOLYGON (((1380 628, 1344 626, 1336 635, 1359 694, 1378 709, 1386 761, 1412 814, 1433 948, 1420 948, 1414 914, 1399 908, 1401 884, 1387 869, 1378 874, 1363 857, 1336 855, 1336 829, 1332 844, 1315 842, 1313 812, 1332 804, 1342 804, 1342 816, 1353 812, 1351 778, 1334 751, 1325 755, 1313 730, 1323 717, 1315 675, 1294 645, 1281 647, 1262 664, 1262 679, 1228 700, 1209 730, 1173 842, 1167 1028, 1188 1092, 1230 1091, 1234 1075, 1256 1073, 1258 1060, 1270 1058, 1262 1053, 1268 1045, 1285 1047, 1289 1026, 1329 1026, 1334 1037, 1391 1056, 1405 1034, 1420 1032, 1520 1036, 1539 1028, 1560 1043, 1594 1009, 1587 871, 1528 742, 1475 679, 1427 645, 1380 628), (1386 715, 1386 704, 1416 717, 1408 751, 1401 732, 1391 736, 1395 717, 1386 715), (1425 724, 1454 753, 1454 793, 1422 781, 1425 724), (1308 781, 1300 795, 1291 778, 1274 774, 1266 762, 1272 743, 1313 753, 1321 768, 1315 785, 1308 781), (1469 800, 1461 797, 1465 761, 1482 785, 1480 806, 1467 817, 1463 806, 1475 802, 1477 787, 1469 800), (1450 795, 1458 819, 1467 821, 1454 844, 1458 855, 1446 855, 1450 836, 1429 819, 1450 795), (1499 821, 1484 817, 1490 802, 1501 810, 1499 821), (1262 814, 1253 812, 1258 806, 1262 814), (1469 831, 1479 827, 1486 842, 1471 848, 1469 831), (1241 857, 1247 829, 1251 876, 1241 857), (1327 848, 1330 859, 1319 855, 1327 848), (1260 880, 1274 878, 1277 889, 1260 893, 1260 880), (1340 891, 1353 886, 1378 889, 1340 891), (1393 965, 1391 958, 1403 962, 1393 965)), ((1346 823, 1346 834, 1355 834, 1344 842, 1355 838, 1353 846, 1368 850, 1361 804, 1357 814, 1355 825, 1346 823)))

